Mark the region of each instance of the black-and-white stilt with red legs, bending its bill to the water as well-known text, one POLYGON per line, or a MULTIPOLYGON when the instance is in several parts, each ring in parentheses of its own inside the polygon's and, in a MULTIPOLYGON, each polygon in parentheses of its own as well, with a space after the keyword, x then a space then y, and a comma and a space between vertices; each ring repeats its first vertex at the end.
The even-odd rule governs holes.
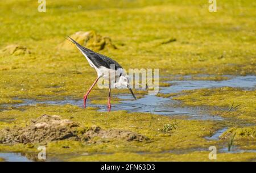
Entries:
MULTIPOLYGON (((69 36, 68 36, 69 37, 69 36)), ((108 96, 108 108, 110 110, 110 92, 112 88, 112 84, 116 88, 129 88, 133 98, 136 100, 135 95, 133 94, 133 90, 129 86, 129 77, 125 74, 122 66, 118 64, 117 61, 112 60, 111 58, 104 56, 100 53, 94 52, 88 48, 83 47, 71 37, 69 37, 69 41, 74 43, 76 47, 81 51, 81 53, 85 56, 86 60, 89 62, 89 65, 93 67, 97 71, 97 79, 93 82, 93 85, 89 88, 89 90, 84 95, 84 108, 86 107, 86 99, 92 90, 93 86, 96 85, 98 79, 101 77, 107 79, 109 81, 109 96, 108 96), (69 40, 71 39, 71 40, 69 40), (110 75, 111 74, 111 75, 110 75)))

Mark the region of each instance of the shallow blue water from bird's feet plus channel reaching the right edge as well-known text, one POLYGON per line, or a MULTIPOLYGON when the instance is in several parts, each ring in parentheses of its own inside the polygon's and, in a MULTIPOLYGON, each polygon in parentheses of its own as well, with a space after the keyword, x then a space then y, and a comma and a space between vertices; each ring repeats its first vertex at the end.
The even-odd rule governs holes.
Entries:
MULTIPOLYGON (((161 87, 159 92, 162 93, 175 93, 183 90, 194 90, 200 88, 210 87, 241 87, 245 90, 254 90, 256 85, 256 77, 253 75, 234 77, 226 81, 171 81, 172 86, 161 87)), ((180 102, 172 100, 171 98, 162 98, 155 95, 146 95, 141 99, 133 100, 131 95, 120 94, 118 98, 123 99, 118 104, 112 105, 112 111, 126 110, 128 112, 142 112, 142 113, 153 113, 156 115, 185 115, 191 119, 200 120, 223 120, 220 116, 212 116, 209 114, 210 107, 181 107, 180 102)), ((90 99, 89 99, 90 101, 90 99)), ((80 100, 52 100, 52 101, 36 101, 23 99, 23 103, 15 104, 16 107, 20 106, 33 106, 36 104, 53 104, 53 105, 64 105, 72 104, 75 106, 82 107, 83 101, 80 100)), ((102 104, 91 104, 88 102, 87 106, 97 107, 98 111, 106 112, 108 108, 102 104)), ((220 108, 218 108, 220 109, 220 108)))

